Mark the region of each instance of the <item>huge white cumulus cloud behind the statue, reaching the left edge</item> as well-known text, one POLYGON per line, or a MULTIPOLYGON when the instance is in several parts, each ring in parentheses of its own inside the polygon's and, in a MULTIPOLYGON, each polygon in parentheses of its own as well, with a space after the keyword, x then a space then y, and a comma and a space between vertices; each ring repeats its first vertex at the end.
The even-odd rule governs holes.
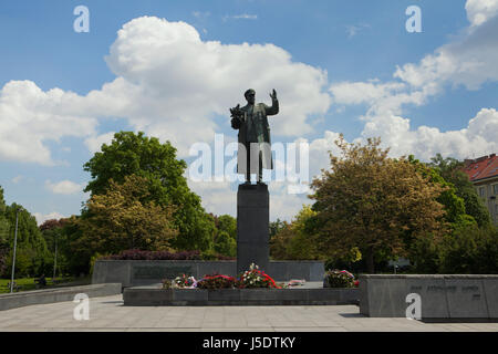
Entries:
POLYGON ((243 105, 249 87, 267 103, 277 90, 282 108, 273 126, 282 136, 312 132, 309 116, 330 106, 325 71, 293 62, 270 43, 203 41, 181 21, 142 17, 125 23, 105 60, 117 77, 85 96, 44 92, 31 81, 7 83, 0 91, 0 159, 53 165, 45 143, 64 136, 81 137, 95 152, 111 134, 97 133, 106 117, 168 139, 186 156, 193 143, 219 131, 216 115, 229 126, 228 108, 243 105))

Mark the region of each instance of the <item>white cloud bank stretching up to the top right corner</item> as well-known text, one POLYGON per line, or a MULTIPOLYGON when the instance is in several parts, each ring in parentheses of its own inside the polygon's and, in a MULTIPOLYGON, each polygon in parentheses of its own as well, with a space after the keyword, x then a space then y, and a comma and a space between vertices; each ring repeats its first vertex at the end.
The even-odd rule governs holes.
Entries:
POLYGON ((338 105, 367 106, 362 137, 381 136, 392 155, 414 154, 429 159, 443 156, 466 158, 496 152, 497 112, 481 108, 467 127, 442 132, 437 127, 412 127, 405 108, 426 104, 448 86, 479 90, 498 82, 498 0, 468 0, 470 27, 454 41, 436 49, 417 63, 397 66, 393 81, 340 82, 330 86, 338 105))

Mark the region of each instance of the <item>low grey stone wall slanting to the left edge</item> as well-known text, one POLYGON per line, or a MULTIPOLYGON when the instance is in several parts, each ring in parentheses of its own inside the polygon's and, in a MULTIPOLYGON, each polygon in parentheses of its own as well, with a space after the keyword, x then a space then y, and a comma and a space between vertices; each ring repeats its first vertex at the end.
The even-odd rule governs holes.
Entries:
POLYGON ((89 298, 110 296, 121 294, 120 283, 94 284, 83 287, 68 287, 45 290, 33 290, 0 294, 0 311, 15 308, 53 303, 62 301, 73 301, 74 295, 85 293, 89 298))

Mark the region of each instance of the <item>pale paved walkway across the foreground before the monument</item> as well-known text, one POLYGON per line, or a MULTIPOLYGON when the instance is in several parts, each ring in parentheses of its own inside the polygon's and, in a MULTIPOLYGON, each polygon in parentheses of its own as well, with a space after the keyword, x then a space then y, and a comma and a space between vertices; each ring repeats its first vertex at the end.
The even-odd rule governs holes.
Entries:
POLYGON ((342 306, 123 305, 122 295, 90 300, 90 320, 73 319, 73 302, 0 311, 0 331, 492 331, 498 323, 423 323, 371 319, 342 306))

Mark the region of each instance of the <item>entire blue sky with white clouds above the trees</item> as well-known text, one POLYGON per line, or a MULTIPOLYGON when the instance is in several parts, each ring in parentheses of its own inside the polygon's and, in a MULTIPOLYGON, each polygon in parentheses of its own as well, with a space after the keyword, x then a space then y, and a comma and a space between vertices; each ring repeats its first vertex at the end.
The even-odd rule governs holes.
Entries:
MULTIPOLYGON (((273 142, 307 139, 312 175, 338 133, 422 159, 496 153, 497 13, 495 0, 2 1, 0 186, 39 220, 79 214, 82 165, 110 133, 170 139, 190 163, 193 143, 235 138, 228 107, 249 86, 266 103, 277 90, 273 142), (80 4, 89 33, 73 30, 80 4), (405 29, 414 4, 422 33, 405 29)), ((235 215, 234 184, 190 186, 208 211, 235 215)), ((309 202, 272 188, 272 219, 309 202)))

